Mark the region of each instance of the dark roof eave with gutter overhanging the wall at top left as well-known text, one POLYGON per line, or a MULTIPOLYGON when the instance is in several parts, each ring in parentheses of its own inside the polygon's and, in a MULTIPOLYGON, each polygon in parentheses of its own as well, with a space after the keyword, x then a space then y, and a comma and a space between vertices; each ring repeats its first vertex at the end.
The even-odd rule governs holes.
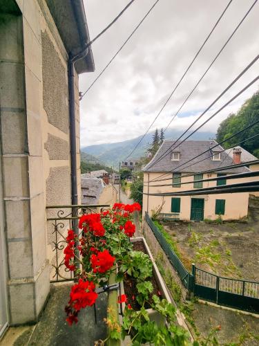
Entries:
MULTIPOLYGON (((66 51, 73 56, 83 51, 90 42, 83 0, 46 0, 46 3, 66 51)), ((75 69, 77 73, 95 71, 91 47, 86 57, 75 63, 75 69)))

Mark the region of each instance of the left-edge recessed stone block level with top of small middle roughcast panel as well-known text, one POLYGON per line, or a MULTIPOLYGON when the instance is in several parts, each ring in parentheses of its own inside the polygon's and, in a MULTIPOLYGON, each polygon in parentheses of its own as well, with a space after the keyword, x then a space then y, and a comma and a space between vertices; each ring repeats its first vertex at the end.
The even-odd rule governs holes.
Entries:
POLYGON ((21 109, 2 110, 0 116, 3 154, 24 154, 27 152, 25 112, 21 109))

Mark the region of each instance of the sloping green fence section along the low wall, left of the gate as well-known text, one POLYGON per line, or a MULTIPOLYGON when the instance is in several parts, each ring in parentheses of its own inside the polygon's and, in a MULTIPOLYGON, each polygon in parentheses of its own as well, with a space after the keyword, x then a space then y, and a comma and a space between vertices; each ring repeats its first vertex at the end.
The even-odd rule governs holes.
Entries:
POLYGON ((173 268, 175 268, 175 271, 177 271, 180 279, 182 280, 182 283, 186 287, 186 289, 189 289, 190 291, 193 291, 193 275, 187 271, 187 269, 184 267, 184 264, 182 264, 180 258, 178 255, 175 254, 171 246, 168 242, 166 242, 166 239, 164 239, 164 236, 160 232, 160 230, 155 226, 149 215, 146 213, 145 215, 146 223, 153 231, 157 242, 159 242, 160 246, 164 250, 164 253, 168 257, 169 261, 171 262, 173 268))

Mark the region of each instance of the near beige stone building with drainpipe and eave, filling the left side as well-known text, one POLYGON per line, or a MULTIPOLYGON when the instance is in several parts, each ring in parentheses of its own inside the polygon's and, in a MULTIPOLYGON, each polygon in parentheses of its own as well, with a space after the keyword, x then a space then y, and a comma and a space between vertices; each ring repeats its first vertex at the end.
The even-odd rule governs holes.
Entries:
POLYGON ((46 206, 80 203, 89 40, 83 0, 0 1, 0 334, 37 321, 50 292, 46 206))

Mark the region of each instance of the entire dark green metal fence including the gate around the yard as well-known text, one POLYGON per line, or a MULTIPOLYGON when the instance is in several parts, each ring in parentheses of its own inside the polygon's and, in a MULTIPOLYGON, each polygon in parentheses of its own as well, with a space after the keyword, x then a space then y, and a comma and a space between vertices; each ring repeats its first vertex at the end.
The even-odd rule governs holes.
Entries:
POLYGON ((259 313, 259 282, 220 277, 194 264, 189 273, 147 213, 145 219, 186 289, 216 304, 259 313))

